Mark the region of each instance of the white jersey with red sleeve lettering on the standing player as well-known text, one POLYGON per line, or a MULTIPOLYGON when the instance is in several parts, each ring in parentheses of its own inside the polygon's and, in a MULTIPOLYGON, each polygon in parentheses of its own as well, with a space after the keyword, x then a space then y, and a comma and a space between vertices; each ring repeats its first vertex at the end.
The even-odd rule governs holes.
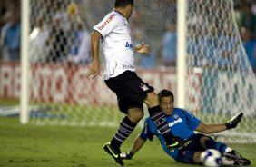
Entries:
POLYGON ((134 72, 133 38, 126 18, 113 10, 94 25, 94 30, 103 36, 104 79, 123 74, 126 70, 134 72))

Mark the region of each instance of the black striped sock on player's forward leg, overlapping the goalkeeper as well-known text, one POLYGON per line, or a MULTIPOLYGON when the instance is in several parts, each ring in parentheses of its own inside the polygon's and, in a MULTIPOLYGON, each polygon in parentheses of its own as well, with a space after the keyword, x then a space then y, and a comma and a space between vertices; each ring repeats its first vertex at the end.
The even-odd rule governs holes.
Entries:
POLYGON ((162 134, 165 143, 169 145, 172 141, 173 135, 166 121, 166 117, 162 113, 160 105, 157 105, 153 108, 149 108, 149 114, 153 123, 162 134))

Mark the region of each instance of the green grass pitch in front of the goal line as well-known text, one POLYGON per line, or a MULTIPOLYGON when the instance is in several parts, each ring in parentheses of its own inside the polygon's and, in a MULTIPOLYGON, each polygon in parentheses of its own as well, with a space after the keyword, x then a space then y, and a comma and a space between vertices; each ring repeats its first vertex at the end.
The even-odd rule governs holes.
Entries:
MULTIPOLYGON (((132 146, 138 131, 123 144, 123 151, 132 146)), ((115 128, 21 125, 16 117, 0 117, 0 166, 114 166, 102 147, 115 132, 115 128)), ((256 164, 256 144, 232 144, 231 147, 251 159, 251 166, 256 164)), ((153 142, 147 142, 133 160, 125 161, 125 166, 190 165, 174 162, 155 138, 153 142)))

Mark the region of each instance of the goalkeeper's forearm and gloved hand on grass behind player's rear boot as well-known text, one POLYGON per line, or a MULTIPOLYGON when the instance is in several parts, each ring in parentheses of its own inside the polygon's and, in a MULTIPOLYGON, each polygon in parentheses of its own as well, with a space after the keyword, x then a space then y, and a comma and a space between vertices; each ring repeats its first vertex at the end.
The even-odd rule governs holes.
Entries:
POLYGON ((133 155, 143 147, 145 142, 146 140, 143 140, 143 138, 141 138, 141 136, 139 135, 133 143, 132 150, 130 152, 121 153, 120 157, 125 160, 131 160, 133 158, 133 155))

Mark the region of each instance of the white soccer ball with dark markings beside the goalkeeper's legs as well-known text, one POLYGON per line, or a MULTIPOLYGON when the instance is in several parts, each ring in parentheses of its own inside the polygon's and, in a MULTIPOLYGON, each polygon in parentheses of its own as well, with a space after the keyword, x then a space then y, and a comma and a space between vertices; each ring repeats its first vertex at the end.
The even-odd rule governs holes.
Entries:
POLYGON ((222 154, 217 150, 208 149, 201 153, 200 161, 204 166, 221 166, 222 154))

